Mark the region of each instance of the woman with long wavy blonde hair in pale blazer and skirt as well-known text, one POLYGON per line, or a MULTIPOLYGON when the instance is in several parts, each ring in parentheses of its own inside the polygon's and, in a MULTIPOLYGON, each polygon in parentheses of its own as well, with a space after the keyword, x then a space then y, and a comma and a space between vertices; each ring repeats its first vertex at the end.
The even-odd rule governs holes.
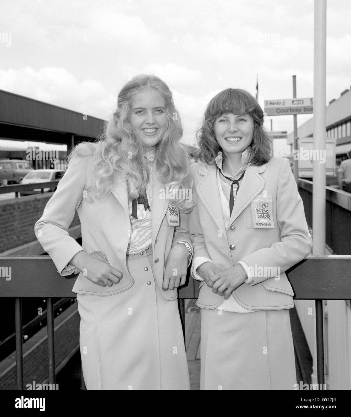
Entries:
POLYGON ((193 251, 182 133, 168 86, 134 77, 104 136, 74 148, 35 225, 58 272, 79 273, 73 291, 88 389, 189 389, 177 303, 193 251), (67 232, 75 211, 81 246, 67 232))

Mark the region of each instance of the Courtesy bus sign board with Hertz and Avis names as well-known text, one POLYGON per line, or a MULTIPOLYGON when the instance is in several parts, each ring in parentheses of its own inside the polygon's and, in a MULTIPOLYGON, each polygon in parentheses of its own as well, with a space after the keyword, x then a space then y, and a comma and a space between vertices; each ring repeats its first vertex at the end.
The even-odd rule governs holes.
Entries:
POLYGON ((313 98, 264 100, 264 111, 267 116, 313 113, 313 98))

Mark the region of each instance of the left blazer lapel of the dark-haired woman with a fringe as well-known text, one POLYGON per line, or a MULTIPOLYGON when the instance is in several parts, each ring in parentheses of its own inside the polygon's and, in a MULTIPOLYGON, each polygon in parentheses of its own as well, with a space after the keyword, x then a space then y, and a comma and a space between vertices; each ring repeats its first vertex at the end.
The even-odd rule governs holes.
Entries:
POLYGON ((206 206, 218 228, 220 230, 226 230, 223 219, 221 197, 218 191, 216 165, 211 167, 202 165, 199 169, 199 173, 203 175, 203 179, 198 182, 196 187, 198 196, 203 201, 203 204, 206 206))

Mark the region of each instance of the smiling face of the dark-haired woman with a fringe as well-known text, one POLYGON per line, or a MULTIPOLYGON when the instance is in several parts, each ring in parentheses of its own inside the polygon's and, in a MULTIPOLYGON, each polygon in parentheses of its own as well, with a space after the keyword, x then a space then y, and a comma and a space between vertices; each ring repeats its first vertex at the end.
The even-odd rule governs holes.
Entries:
POLYGON ((225 156, 240 155, 250 146, 253 137, 253 118, 248 114, 238 116, 223 114, 216 118, 213 129, 218 145, 225 156))

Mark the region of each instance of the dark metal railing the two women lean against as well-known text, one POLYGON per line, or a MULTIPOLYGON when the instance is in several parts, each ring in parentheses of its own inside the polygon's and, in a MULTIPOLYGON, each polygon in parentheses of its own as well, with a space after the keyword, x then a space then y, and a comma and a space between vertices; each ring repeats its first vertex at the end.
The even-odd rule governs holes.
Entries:
MULTIPOLYGON (((15 298, 17 388, 23 389, 21 303, 22 298, 28 297, 47 299, 48 374, 49 383, 55 384, 53 298, 72 298, 74 278, 60 276, 50 256, 2 256, 0 257, 0 273, 0 297, 15 298), (11 271, 11 279, 8 279, 9 271, 11 271)), ((286 274, 294 290, 294 299, 310 299, 316 302, 317 379, 319 386, 323 387, 323 300, 351 299, 351 256, 309 256, 288 269, 286 274)), ((184 300, 197 299, 198 293, 198 281, 188 276, 186 285, 179 289, 183 324, 185 322, 184 300)), ((84 389, 83 378, 82 387, 84 389)))

